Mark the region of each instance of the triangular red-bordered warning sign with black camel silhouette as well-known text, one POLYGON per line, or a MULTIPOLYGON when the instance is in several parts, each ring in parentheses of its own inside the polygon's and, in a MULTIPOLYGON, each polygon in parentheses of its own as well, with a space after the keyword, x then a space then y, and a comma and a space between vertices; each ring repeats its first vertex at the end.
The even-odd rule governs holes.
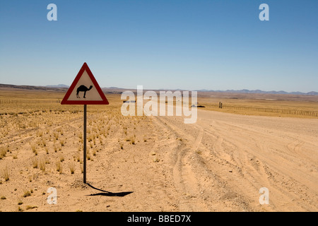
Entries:
POLYGON ((86 63, 78 72, 61 105, 109 105, 86 63))

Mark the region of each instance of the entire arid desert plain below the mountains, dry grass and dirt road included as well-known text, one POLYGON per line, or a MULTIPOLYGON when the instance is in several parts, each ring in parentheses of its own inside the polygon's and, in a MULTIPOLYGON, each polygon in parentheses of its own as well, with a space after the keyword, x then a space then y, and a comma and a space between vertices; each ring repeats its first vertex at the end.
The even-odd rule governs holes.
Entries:
POLYGON ((124 117, 105 93, 110 105, 88 105, 83 184, 83 106, 64 94, 1 88, 1 211, 318 210, 317 95, 198 93, 184 124, 124 117))

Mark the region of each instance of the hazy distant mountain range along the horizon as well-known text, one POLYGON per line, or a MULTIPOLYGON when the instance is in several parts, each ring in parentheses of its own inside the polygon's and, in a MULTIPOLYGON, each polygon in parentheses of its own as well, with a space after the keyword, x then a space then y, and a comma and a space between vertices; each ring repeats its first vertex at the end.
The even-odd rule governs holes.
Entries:
MULTIPOLYGON (((69 88, 69 85, 59 84, 59 85, 45 85, 45 86, 35 86, 35 85, 7 85, 7 84, 0 84, 0 88, 18 88, 18 89, 26 89, 26 90, 66 90, 69 88)), ((103 87, 102 90, 126 90, 125 88, 118 88, 118 87, 103 87)), ((130 89, 131 90, 131 89, 130 89)), ((167 89, 160 89, 160 90, 167 90, 167 89)), ((180 89, 176 89, 180 90, 180 89)), ((194 90, 197 92, 215 92, 215 93, 262 93, 262 94, 293 94, 293 95, 318 95, 318 92, 311 91, 308 93, 302 92, 285 92, 281 91, 263 91, 263 90, 194 90)))

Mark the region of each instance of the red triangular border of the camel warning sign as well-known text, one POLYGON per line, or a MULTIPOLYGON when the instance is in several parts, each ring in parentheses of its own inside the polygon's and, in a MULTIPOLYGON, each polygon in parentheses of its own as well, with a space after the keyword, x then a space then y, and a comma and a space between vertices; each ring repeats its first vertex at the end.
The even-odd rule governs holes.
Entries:
POLYGON ((105 97, 104 93, 102 93, 102 89, 100 88, 100 85, 98 85, 98 82, 93 76, 92 71, 90 71, 90 68, 86 64, 86 62, 81 67, 81 70, 78 71, 78 74, 76 78, 74 79, 72 85, 70 86, 69 90, 67 90, 66 95, 64 96, 63 100, 61 101, 61 105, 109 105, 107 98, 105 97), (81 76, 83 76, 84 71, 88 73, 88 76, 90 77, 90 80, 95 85, 96 90, 98 90, 98 93, 102 100, 68 100, 69 96, 73 92, 75 86, 77 85, 78 81, 80 80, 81 76))

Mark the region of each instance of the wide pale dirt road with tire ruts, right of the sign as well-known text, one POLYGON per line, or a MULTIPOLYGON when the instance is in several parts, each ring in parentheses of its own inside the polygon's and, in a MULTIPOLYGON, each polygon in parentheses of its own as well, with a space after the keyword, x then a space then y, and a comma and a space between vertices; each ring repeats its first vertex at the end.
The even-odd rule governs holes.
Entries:
POLYGON ((199 111, 193 125, 155 121, 182 138, 165 152, 172 181, 187 194, 179 210, 318 210, 317 120, 199 111), (262 187, 269 205, 259 203, 262 187))

